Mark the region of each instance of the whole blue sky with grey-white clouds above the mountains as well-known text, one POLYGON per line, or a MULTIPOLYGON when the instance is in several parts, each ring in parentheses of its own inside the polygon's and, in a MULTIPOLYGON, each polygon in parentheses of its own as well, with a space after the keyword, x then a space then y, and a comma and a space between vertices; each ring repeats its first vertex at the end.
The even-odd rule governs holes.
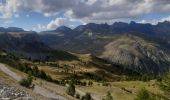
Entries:
POLYGON ((119 21, 170 21, 170 0, 0 0, 0 27, 44 31, 119 21))

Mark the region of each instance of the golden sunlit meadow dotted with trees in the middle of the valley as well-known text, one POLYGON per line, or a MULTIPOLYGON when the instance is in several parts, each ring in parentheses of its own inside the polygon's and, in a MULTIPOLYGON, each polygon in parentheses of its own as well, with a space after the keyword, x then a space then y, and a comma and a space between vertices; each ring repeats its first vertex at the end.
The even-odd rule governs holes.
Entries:
MULTIPOLYGON (((97 77, 103 78, 103 73, 103 75, 105 75, 103 79, 112 79, 112 81, 120 80, 120 75, 111 72, 113 69, 110 64, 107 64, 106 62, 89 54, 76 56, 79 58, 79 60, 56 60, 53 62, 46 62, 41 64, 32 62, 29 63, 32 65, 37 65, 39 69, 44 70, 54 79, 67 78, 73 74, 77 74, 80 77, 83 77, 84 73, 91 73, 93 75, 96 75, 97 77), (56 64, 59 66, 57 66, 56 64)), ((25 60, 24 62, 28 61, 25 60)))

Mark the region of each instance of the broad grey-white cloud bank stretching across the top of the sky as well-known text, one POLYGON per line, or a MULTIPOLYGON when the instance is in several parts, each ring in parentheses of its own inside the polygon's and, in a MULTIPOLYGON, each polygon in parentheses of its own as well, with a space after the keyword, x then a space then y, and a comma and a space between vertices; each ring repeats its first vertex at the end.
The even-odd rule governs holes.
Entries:
POLYGON ((44 16, 64 12, 66 17, 83 22, 110 22, 170 12, 170 0, 8 0, 0 6, 0 18, 9 18, 18 12, 38 12, 44 16))

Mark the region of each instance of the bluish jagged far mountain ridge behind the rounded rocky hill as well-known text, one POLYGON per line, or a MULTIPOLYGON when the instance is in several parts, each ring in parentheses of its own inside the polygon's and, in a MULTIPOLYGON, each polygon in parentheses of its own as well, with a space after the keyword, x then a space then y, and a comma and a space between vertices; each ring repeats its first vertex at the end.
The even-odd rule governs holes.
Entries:
POLYGON ((87 25, 80 25, 73 30, 62 26, 53 31, 41 32, 40 37, 44 43, 55 49, 91 53, 91 50, 88 49, 88 47, 92 47, 91 45, 96 43, 97 45, 105 45, 106 42, 108 43, 109 40, 103 40, 104 37, 114 37, 116 34, 124 33, 144 34, 145 36, 159 38, 168 42, 170 39, 170 22, 160 22, 157 25, 141 24, 133 21, 129 24, 115 22, 112 25, 89 23, 87 25), (81 50, 82 45, 85 45, 83 49, 87 47, 87 50, 81 50), (76 49, 72 48, 72 50, 70 46, 76 49))

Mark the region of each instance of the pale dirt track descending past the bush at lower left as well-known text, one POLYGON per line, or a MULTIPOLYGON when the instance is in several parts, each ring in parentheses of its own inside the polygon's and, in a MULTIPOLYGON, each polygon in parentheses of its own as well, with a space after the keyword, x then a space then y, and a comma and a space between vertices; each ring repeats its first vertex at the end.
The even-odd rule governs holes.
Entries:
MULTIPOLYGON (((0 63, 0 70, 3 71, 4 73, 6 73, 7 75, 9 75, 10 77, 14 78, 17 81, 20 81, 22 79, 22 77, 20 75, 11 71, 8 67, 6 67, 6 65, 1 64, 1 63, 0 63)), ((35 85, 33 92, 40 94, 46 98, 53 99, 53 100, 66 100, 64 97, 62 97, 60 95, 56 95, 54 93, 51 93, 47 89, 44 89, 43 87, 38 86, 38 85, 35 85)))

